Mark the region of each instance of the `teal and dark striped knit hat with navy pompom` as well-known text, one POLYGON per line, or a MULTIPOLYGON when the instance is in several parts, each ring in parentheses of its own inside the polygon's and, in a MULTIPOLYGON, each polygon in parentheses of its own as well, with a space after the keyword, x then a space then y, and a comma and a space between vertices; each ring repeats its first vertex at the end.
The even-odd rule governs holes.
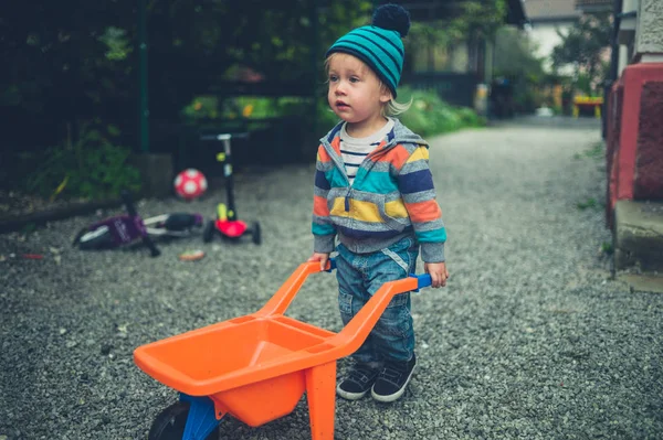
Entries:
POLYGON ((409 30, 410 13, 398 4, 383 4, 376 9, 370 25, 343 35, 329 47, 325 57, 336 52, 358 57, 378 75, 396 98, 406 56, 401 39, 409 30))

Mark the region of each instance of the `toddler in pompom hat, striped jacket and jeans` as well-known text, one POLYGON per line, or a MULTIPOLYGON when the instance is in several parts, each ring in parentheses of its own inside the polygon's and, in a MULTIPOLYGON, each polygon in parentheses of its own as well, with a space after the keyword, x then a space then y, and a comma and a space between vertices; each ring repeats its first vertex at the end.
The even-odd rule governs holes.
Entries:
MULTIPOLYGON (((419 249, 432 287, 445 286, 446 232, 435 201, 428 143, 398 119, 397 103, 409 13, 378 8, 372 24, 327 51, 327 98, 341 121, 322 140, 314 185, 314 254, 324 267, 337 250, 344 325, 388 281, 414 272, 419 249), (335 240, 338 246, 335 248, 335 240)), ((410 293, 396 296, 361 347, 337 394, 356 400, 400 398, 417 365, 410 293)))

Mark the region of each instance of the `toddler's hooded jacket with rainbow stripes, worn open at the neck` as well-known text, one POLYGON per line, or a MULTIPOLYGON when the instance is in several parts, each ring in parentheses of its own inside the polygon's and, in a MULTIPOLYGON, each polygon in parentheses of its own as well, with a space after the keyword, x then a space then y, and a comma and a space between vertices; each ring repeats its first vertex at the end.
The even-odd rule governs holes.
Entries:
POLYGON ((332 253, 336 235, 349 250, 373 253, 414 237, 425 262, 444 261, 446 230, 429 168, 428 143, 399 120, 357 171, 352 185, 340 157, 338 124, 320 139, 314 201, 314 251, 332 253))

